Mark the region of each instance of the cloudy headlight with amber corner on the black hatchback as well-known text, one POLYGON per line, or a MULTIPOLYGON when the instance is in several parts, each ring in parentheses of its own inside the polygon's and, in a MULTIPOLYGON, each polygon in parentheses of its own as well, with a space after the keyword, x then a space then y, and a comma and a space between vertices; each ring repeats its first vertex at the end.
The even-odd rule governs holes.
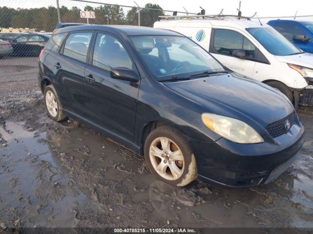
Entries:
POLYGON ((252 127, 238 119, 210 113, 203 113, 201 119, 206 127, 228 140, 243 144, 264 142, 252 127))

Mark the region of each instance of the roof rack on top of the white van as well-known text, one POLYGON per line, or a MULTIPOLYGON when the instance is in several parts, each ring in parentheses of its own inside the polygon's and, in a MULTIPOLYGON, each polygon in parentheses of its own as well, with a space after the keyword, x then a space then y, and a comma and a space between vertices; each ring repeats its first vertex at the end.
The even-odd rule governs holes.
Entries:
POLYGON ((238 15, 188 15, 188 16, 159 16, 158 20, 185 20, 185 19, 214 19, 214 20, 224 20, 224 19, 238 19, 238 20, 251 20, 256 15, 256 12, 251 17, 238 16, 238 15))

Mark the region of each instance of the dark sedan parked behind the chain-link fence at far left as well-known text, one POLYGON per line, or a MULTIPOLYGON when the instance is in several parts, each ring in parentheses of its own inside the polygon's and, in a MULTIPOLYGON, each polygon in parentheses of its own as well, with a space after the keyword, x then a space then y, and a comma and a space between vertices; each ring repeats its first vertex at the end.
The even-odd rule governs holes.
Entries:
POLYGON ((15 56, 38 56, 51 35, 39 33, 23 34, 11 41, 15 56))

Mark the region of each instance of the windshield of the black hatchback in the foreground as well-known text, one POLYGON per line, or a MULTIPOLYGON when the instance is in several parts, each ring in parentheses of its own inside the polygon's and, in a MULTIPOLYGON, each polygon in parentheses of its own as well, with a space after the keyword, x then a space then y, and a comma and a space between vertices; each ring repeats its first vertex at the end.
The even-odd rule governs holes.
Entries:
POLYGON ((157 80, 202 71, 224 71, 222 65, 192 40, 180 36, 130 36, 135 49, 157 80))

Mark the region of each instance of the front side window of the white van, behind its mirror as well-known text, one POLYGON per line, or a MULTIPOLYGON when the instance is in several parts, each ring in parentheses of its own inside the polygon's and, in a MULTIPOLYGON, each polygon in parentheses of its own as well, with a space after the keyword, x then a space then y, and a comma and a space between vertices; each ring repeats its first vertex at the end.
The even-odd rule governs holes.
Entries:
POLYGON ((226 29, 214 30, 214 49, 222 55, 232 56, 233 50, 243 49, 246 57, 255 58, 255 46, 240 33, 226 29))

